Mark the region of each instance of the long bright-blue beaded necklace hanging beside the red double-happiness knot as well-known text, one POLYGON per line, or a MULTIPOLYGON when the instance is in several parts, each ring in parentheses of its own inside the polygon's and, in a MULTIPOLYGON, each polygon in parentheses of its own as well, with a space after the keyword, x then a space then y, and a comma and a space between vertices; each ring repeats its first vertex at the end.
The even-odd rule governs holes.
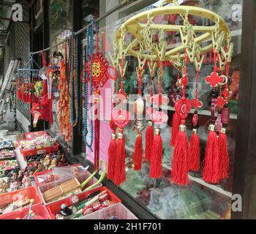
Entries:
MULTIPOLYGON (((91 135, 90 135, 90 140, 87 140, 87 136, 89 133, 89 129, 88 129, 88 116, 89 116, 89 85, 90 85, 90 94, 92 95, 94 92, 92 83, 92 60, 93 60, 93 50, 94 50, 94 19, 91 20, 91 26, 87 29, 86 31, 86 61, 88 61, 89 59, 91 67, 90 67, 90 81, 85 82, 85 102, 84 102, 84 109, 85 109, 85 113, 84 113, 84 118, 83 118, 83 142, 86 144, 86 146, 91 150, 91 152, 93 152, 93 143, 94 143, 94 121, 93 121, 93 103, 90 103, 90 115, 91 115, 91 120, 90 120, 90 129, 91 129, 91 135)), ((86 80, 88 75, 88 71, 85 72, 85 77, 84 79, 86 80)))

